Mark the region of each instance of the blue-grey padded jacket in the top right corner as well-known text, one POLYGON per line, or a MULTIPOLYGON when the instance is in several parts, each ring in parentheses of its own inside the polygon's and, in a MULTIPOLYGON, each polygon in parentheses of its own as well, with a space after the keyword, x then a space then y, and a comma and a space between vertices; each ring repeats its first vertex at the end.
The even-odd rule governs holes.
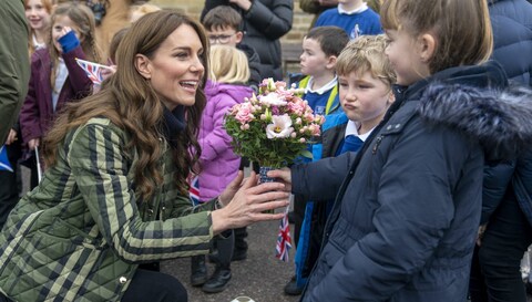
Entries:
POLYGON ((510 81, 532 86, 532 3, 487 0, 493 28, 493 56, 510 81))

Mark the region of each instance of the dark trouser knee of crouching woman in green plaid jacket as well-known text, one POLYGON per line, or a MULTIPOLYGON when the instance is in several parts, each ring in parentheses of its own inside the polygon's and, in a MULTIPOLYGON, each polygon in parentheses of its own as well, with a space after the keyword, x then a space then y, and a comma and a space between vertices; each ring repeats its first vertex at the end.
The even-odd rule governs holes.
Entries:
POLYGON ((174 277, 155 271, 136 270, 122 302, 186 302, 186 289, 174 277))

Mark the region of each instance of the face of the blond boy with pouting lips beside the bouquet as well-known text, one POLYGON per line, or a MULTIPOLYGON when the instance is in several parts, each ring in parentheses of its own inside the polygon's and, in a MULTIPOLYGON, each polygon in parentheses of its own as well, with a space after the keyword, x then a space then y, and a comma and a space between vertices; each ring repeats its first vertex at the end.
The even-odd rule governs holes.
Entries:
POLYGON ((374 77, 369 71, 361 75, 350 72, 338 75, 340 104, 349 119, 359 122, 366 129, 371 129, 382 119, 393 102, 389 84, 374 77))

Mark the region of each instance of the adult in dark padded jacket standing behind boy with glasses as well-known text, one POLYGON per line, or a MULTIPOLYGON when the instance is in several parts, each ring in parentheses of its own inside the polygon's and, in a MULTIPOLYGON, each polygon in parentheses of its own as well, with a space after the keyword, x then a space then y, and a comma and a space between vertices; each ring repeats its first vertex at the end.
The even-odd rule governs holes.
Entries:
POLYGON ((283 80, 279 39, 291 29, 294 1, 290 0, 205 0, 201 20, 213 8, 232 6, 243 17, 243 42, 254 48, 260 59, 262 76, 283 80))

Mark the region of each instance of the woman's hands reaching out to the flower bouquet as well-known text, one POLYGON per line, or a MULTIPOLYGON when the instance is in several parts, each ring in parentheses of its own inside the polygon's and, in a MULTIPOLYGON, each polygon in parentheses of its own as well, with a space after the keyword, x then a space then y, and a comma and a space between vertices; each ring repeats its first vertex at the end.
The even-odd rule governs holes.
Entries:
POLYGON ((289 194, 284 191, 285 186, 280 183, 266 183, 257 185, 257 176, 254 171, 244 180, 242 187, 238 187, 237 179, 242 179, 242 174, 228 186, 221 195, 224 208, 215 210, 212 214, 213 230, 215 233, 226 229, 242 228, 254 222, 276 220, 283 218, 284 212, 266 214, 266 210, 287 207, 289 205, 289 194), (227 204, 227 199, 233 198, 227 204))

